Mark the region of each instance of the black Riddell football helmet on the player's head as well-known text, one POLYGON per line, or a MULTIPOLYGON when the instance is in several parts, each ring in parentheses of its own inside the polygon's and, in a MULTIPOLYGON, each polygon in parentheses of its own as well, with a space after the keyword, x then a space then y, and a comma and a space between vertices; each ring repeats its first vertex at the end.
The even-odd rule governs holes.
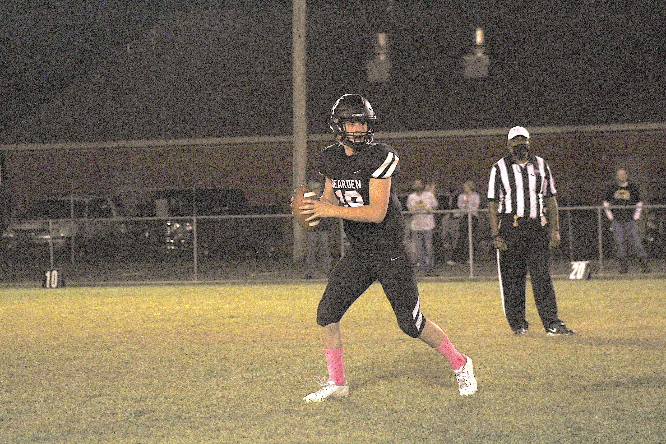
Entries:
POLYGON ((338 142, 359 150, 372 142, 375 115, 370 102, 358 94, 346 94, 331 109, 330 128, 338 142), (362 120, 368 124, 366 132, 347 132, 344 122, 362 120))

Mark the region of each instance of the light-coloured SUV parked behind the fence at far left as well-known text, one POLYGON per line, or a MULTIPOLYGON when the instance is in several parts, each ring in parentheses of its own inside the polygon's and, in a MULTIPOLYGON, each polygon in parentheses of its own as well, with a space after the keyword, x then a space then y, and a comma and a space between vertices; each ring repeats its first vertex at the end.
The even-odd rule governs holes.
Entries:
POLYGON ((5 257, 45 256, 53 240, 55 256, 115 258, 122 222, 100 219, 125 217, 123 201, 113 194, 56 194, 37 200, 7 226, 2 236, 5 257), (89 220, 94 219, 94 220, 89 220), (49 230, 49 220, 52 220, 49 230))

